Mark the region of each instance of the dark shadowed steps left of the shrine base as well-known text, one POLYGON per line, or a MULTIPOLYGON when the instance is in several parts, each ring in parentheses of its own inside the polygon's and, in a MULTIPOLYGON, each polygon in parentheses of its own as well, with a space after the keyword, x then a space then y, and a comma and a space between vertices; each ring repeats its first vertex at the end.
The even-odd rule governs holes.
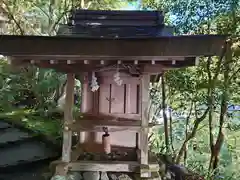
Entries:
POLYGON ((59 154, 35 134, 0 121, 0 179, 42 178, 43 168, 59 154))

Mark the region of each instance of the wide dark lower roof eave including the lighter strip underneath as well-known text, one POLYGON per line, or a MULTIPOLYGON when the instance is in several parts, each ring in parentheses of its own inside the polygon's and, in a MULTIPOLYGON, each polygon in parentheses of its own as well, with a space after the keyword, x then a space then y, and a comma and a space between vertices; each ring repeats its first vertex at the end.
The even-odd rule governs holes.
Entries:
POLYGON ((169 66, 177 65, 179 61, 183 66, 189 66, 194 65, 192 61, 195 57, 220 56, 226 38, 225 35, 148 38, 0 35, 0 54, 10 56, 18 65, 34 60, 38 61, 39 67, 57 69, 61 64, 60 71, 65 71, 65 66, 68 71, 71 71, 71 65, 76 68, 70 61, 80 66, 85 61, 113 63, 119 60, 132 64, 135 60, 144 64, 152 64, 151 61, 161 64, 177 61, 169 66), (50 60, 58 63, 47 62, 50 60))

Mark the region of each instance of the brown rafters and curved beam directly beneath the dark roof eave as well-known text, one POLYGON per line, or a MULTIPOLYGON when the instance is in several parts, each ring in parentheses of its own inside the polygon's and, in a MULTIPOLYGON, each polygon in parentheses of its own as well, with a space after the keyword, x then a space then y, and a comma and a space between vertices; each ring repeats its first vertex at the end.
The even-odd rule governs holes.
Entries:
MULTIPOLYGON (((189 59, 189 58, 188 58, 189 59)), ((181 67, 187 67, 187 66, 193 66, 194 65, 194 58, 191 60, 176 60, 176 64, 172 65, 172 63, 168 60, 163 61, 154 61, 155 64, 151 64, 151 61, 138 61, 138 64, 135 64, 135 66, 138 66, 143 74, 159 74, 163 70, 173 69, 173 68, 181 68, 181 67)), ((19 59, 19 57, 12 57, 12 66, 24 66, 28 64, 32 64, 35 66, 38 66, 40 68, 51 68, 55 69, 60 72, 64 73, 87 73, 94 70, 98 70, 99 68, 103 68, 104 66, 111 66, 118 63, 118 61, 104 61, 104 64, 101 64, 101 61, 89 61, 89 64, 84 64, 83 61, 79 60, 58 60, 57 63, 51 64, 48 60, 26 60, 26 59, 19 59)), ((103 60, 102 60, 103 61, 103 60)), ((136 62, 134 61, 121 61, 123 64, 134 64, 136 62)), ((124 69, 121 69, 124 71, 124 69)), ((127 71, 127 70, 125 70, 127 71)))

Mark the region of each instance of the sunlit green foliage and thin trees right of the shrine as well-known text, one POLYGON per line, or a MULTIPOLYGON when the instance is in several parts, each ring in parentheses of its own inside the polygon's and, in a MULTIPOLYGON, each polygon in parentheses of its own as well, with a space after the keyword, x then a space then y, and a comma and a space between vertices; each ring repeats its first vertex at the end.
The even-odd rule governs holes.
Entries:
MULTIPOLYGON (((171 109, 168 131, 172 131, 169 138, 176 163, 210 179, 239 179, 239 166, 234 166, 240 163, 240 146, 234 141, 239 134, 239 116, 224 110, 225 105, 240 103, 239 2, 145 0, 143 6, 163 9, 166 22, 176 26, 177 34, 230 35, 232 58, 226 54, 225 58, 201 58, 198 67, 165 72, 165 93, 171 109), (211 156, 217 163, 214 167, 211 156)), ((161 88, 159 84, 152 87, 154 104, 162 104, 161 88)), ((153 151, 166 153, 164 134, 160 129, 151 136, 153 151)))

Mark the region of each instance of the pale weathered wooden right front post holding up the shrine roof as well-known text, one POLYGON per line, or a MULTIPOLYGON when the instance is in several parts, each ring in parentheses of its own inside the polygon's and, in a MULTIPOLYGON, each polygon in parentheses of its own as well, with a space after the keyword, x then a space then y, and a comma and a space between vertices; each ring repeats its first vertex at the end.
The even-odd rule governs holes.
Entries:
MULTIPOLYGON (((140 133, 140 163, 148 165, 148 117, 149 117, 149 83, 150 75, 144 74, 141 82, 141 133, 140 133)), ((144 172, 140 169, 141 177, 150 177, 150 172, 144 172)))

